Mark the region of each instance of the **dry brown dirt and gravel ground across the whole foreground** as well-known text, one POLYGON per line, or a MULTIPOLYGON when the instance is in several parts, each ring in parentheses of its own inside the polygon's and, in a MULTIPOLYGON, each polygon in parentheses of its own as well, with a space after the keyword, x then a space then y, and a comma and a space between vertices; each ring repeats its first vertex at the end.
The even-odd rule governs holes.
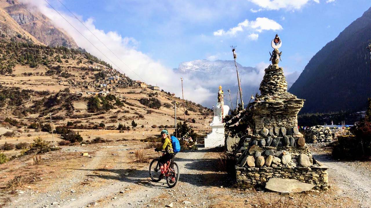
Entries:
POLYGON ((0 207, 370 207, 370 162, 341 162, 328 157, 325 147, 310 147, 328 165, 328 191, 280 195, 233 186, 233 178, 220 171, 220 152, 200 148, 177 154, 180 180, 168 188, 165 180, 152 182, 148 166, 157 153, 137 140, 64 147, 0 166, 0 207), (135 162, 142 151, 148 162, 135 162), (89 157, 81 156, 88 152, 89 157), (6 188, 22 175, 19 188, 6 188), (270 204, 269 204, 270 203, 270 204))

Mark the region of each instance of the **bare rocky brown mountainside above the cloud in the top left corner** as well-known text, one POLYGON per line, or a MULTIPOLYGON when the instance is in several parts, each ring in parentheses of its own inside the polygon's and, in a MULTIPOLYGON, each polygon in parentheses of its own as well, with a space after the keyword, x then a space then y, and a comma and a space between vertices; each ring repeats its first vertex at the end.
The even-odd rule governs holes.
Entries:
MULTIPOLYGON (((27 5, 25 5, 27 7, 27 5)), ((0 7, 6 11, 25 31, 47 46, 78 48, 72 37, 53 25, 52 21, 36 9, 29 9, 10 0, 0 0, 0 7)))

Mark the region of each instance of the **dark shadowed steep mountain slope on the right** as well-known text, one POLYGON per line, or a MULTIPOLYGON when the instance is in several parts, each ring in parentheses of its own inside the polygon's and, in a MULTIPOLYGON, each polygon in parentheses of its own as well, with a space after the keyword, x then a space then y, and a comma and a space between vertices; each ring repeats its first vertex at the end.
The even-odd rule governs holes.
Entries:
POLYGON ((306 99, 301 113, 357 111, 371 97, 371 8, 326 44, 289 92, 306 99))

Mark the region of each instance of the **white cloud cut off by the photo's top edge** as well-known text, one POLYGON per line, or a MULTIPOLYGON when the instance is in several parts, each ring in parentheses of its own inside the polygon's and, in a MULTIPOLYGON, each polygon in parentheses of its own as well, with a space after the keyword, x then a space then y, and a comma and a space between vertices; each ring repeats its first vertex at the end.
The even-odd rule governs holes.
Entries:
POLYGON ((250 0, 250 1, 265 10, 279 10, 279 9, 299 10, 309 1, 319 3, 319 0, 250 0))

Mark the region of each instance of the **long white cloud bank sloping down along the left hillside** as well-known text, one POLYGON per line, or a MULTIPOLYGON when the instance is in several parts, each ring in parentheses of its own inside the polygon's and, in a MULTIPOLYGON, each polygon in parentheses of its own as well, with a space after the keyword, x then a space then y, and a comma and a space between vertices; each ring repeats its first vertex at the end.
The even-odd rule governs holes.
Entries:
MULTIPOLYGON (((86 27, 95 34, 110 50, 112 50, 124 63, 130 67, 130 69, 122 63, 119 58, 112 54, 96 37, 94 37, 75 17, 65 14, 61 11, 63 17, 66 18, 77 30, 80 31, 91 43, 93 43, 102 53, 104 53, 111 61, 108 60, 102 53, 100 53, 89 41, 81 36, 66 20, 64 20, 55 10, 50 8, 44 0, 21 0, 22 3, 28 3, 29 6, 37 7, 37 9, 43 13, 46 17, 51 19, 56 27, 65 30, 78 44, 79 47, 85 48, 86 51, 93 54, 94 56, 104 60, 117 70, 121 68, 121 72, 134 80, 140 80, 135 75, 138 74, 148 84, 157 84, 161 89, 165 91, 171 91, 181 95, 181 84, 180 77, 173 72, 171 68, 163 66, 159 61, 153 60, 147 54, 137 50, 139 42, 133 37, 122 37, 115 31, 105 32, 96 28, 93 19, 83 21, 86 27), (116 67, 116 65, 118 67, 116 67), (134 73, 134 72, 135 73, 134 73), (177 77, 179 82, 177 83, 177 77)), ((206 87, 201 86, 198 80, 190 80, 187 76, 184 78, 184 98, 195 101, 197 103, 203 103, 210 99, 211 93, 206 87), (188 83, 188 84, 185 84, 188 83), (197 93, 195 93, 197 92, 197 93)))

